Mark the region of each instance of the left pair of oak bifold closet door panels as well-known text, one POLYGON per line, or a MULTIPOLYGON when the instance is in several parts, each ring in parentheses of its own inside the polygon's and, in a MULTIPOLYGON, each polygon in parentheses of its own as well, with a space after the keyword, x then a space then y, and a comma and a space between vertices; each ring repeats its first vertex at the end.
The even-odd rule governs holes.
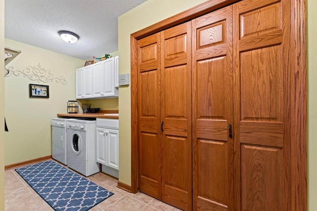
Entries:
POLYGON ((137 43, 138 188, 192 209, 191 23, 137 43))

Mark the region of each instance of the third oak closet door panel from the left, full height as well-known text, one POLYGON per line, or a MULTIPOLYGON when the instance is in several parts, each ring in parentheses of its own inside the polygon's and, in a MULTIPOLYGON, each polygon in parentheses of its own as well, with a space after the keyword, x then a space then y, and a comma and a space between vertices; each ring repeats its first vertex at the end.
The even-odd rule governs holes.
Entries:
POLYGON ((232 6, 192 25, 193 209, 233 211, 232 6))

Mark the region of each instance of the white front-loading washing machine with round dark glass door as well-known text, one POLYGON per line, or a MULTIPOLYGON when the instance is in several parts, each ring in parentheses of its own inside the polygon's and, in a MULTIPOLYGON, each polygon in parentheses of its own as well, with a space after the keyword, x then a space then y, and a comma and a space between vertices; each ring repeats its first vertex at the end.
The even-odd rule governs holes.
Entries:
POLYGON ((99 172, 96 150, 96 120, 67 121, 67 166, 85 176, 99 172))

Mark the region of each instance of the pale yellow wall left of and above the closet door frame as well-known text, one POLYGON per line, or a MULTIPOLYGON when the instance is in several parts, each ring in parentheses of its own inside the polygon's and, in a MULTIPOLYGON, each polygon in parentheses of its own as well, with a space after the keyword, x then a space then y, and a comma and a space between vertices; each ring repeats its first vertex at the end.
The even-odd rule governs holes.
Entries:
MULTIPOLYGON (((147 0, 118 18, 119 74, 130 73, 130 34, 206 0, 147 0), (168 5, 168 6, 166 6, 168 5)), ((119 181, 131 185, 131 89, 119 87, 119 181)))

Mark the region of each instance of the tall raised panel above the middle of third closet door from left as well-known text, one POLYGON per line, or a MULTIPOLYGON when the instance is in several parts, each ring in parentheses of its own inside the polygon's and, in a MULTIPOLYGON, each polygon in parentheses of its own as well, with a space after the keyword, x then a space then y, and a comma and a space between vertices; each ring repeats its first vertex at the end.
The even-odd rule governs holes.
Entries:
POLYGON ((198 119, 224 119, 226 57, 197 62, 198 119))

